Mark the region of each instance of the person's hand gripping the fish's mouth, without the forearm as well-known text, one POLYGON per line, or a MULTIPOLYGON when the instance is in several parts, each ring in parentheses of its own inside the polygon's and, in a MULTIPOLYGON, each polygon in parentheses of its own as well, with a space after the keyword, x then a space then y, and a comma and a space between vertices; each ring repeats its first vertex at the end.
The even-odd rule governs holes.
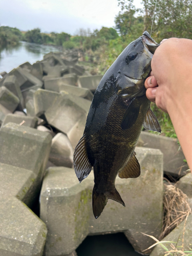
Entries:
POLYGON ((151 66, 151 76, 145 80, 146 97, 159 109, 169 113, 191 101, 192 40, 163 40, 154 53, 151 66))

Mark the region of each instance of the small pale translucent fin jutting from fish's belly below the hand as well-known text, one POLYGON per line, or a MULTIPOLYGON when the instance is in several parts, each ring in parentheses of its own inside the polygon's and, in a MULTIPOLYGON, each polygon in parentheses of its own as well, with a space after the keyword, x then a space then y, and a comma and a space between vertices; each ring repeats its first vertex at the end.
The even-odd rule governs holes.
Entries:
POLYGON ((143 127, 146 130, 150 130, 150 131, 155 131, 155 132, 161 132, 161 126, 157 120, 157 117, 155 116, 155 114, 153 113, 153 111, 150 109, 148 109, 146 116, 145 116, 145 120, 143 123, 143 127))

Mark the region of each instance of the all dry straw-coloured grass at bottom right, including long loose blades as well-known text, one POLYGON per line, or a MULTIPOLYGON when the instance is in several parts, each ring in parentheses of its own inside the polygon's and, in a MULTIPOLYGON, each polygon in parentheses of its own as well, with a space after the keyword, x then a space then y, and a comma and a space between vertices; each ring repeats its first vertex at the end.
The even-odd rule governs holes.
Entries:
POLYGON ((174 185, 166 185, 165 186, 165 192, 163 197, 163 212, 164 212, 164 218, 163 218, 163 227, 162 231, 159 237, 159 240, 153 236, 150 236, 148 234, 143 233, 145 236, 151 237, 153 240, 156 241, 155 244, 145 249, 143 252, 152 249, 156 245, 160 245, 165 251, 164 256, 189 256, 192 255, 192 249, 191 245, 189 244, 188 249, 184 250, 184 234, 185 234, 185 226, 186 226, 186 220, 191 214, 191 208, 190 205, 187 202, 187 196, 183 193, 183 191, 179 188, 177 188, 174 185), (177 227, 182 221, 184 222, 183 232, 182 234, 179 234, 177 241, 160 241, 164 237, 167 236, 168 233, 170 233, 175 227, 177 227), (182 235, 182 245, 179 246, 178 242, 182 235), (170 248, 167 248, 164 243, 170 243, 170 248))

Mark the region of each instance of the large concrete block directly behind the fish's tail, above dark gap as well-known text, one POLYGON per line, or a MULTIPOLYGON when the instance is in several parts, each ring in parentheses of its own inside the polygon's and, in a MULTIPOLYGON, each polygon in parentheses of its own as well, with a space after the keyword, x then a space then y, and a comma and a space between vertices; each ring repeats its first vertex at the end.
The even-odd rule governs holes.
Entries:
POLYGON ((67 255, 88 234, 124 232, 142 252, 158 237, 162 223, 163 155, 159 150, 136 148, 141 165, 137 179, 116 179, 126 207, 109 200, 96 220, 92 211, 93 172, 79 184, 74 169, 50 167, 40 194, 40 218, 47 224, 46 256, 67 255))

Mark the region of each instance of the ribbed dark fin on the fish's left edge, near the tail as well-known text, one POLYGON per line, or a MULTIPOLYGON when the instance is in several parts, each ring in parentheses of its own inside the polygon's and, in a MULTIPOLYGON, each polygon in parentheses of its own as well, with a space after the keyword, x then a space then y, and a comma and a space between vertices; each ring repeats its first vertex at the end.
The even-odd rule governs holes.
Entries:
POLYGON ((79 182, 81 182, 83 179, 88 177, 92 168, 92 165, 90 164, 88 159, 84 135, 75 147, 73 162, 75 173, 79 182))

